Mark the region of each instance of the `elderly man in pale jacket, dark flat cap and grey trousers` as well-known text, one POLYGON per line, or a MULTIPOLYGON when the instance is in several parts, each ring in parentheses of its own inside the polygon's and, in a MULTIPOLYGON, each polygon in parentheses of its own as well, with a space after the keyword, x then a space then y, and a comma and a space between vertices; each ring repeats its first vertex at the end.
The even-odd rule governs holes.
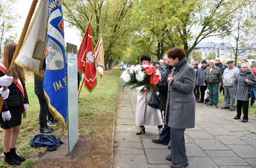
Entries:
POLYGON ((239 70, 235 67, 235 61, 230 60, 227 62, 228 68, 226 68, 223 72, 222 76, 222 83, 224 88, 224 100, 225 106, 221 107, 221 109, 229 109, 230 111, 235 110, 235 98, 234 92, 235 89, 233 88, 234 80, 239 73, 239 70), (231 99, 231 103, 230 103, 231 99))

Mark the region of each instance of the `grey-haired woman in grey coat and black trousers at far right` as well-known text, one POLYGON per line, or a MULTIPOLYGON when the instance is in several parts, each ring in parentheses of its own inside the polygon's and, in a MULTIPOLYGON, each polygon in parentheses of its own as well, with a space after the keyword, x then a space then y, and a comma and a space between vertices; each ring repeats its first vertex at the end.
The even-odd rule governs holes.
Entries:
POLYGON ((241 122, 248 121, 249 92, 255 86, 256 77, 252 69, 247 63, 243 63, 233 85, 234 98, 237 100, 237 115, 234 119, 240 119, 243 107, 243 120, 241 122))

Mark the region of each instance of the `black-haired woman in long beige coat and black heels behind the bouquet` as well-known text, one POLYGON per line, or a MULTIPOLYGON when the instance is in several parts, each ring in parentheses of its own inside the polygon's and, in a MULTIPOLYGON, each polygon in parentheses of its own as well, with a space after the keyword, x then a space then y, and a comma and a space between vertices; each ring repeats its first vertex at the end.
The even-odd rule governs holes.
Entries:
MULTIPOLYGON (((141 56, 141 63, 149 63, 150 56, 144 54, 141 56)), ((145 88, 144 86, 137 88, 137 107, 135 124, 140 127, 137 135, 145 133, 144 126, 158 126, 159 134, 162 132, 162 117, 159 109, 152 108, 148 105, 149 98, 151 97, 153 90, 145 88)))

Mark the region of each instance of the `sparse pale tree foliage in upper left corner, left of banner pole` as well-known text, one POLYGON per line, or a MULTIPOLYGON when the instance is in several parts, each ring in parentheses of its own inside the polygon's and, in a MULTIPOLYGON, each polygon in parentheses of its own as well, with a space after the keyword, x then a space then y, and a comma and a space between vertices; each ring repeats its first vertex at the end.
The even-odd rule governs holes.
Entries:
POLYGON ((19 17, 14 15, 12 11, 12 4, 15 2, 16 0, 0 0, 0 56, 5 42, 15 39, 13 36, 6 37, 6 34, 13 29, 15 20, 19 17))

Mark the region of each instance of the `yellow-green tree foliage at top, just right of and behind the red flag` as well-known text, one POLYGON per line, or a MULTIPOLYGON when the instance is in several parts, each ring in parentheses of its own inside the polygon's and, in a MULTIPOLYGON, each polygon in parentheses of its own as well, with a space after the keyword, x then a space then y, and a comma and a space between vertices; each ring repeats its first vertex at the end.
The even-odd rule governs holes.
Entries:
POLYGON ((114 59, 119 59, 130 38, 132 27, 130 9, 134 0, 63 0, 65 19, 84 34, 90 17, 94 43, 104 28, 105 67, 111 68, 114 59))

